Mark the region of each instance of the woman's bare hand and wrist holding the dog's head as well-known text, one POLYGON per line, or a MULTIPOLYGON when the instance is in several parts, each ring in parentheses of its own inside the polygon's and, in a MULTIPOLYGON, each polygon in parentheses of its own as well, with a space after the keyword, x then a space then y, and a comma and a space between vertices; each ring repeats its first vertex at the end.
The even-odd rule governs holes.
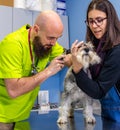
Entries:
POLYGON ((72 69, 74 71, 74 73, 78 73, 81 69, 82 69, 82 64, 80 64, 77 60, 77 53, 78 53, 78 49, 80 49, 80 47, 82 46, 83 41, 78 42, 78 40, 76 40, 71 47, 71 54, 72 54, 72 69))

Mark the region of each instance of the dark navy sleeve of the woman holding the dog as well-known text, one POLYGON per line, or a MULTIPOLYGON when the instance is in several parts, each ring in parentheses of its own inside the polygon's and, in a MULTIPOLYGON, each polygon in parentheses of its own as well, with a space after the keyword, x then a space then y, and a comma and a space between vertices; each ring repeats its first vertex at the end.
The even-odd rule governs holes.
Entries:
POLYGON ((77 85, 95 99, 105 96, 112 86, 116 85, 120 90, 120 45, 106 52, 103 67, 97 79, 90 79, 83 70, 77 74, 74 73, 74 76, 77 85))

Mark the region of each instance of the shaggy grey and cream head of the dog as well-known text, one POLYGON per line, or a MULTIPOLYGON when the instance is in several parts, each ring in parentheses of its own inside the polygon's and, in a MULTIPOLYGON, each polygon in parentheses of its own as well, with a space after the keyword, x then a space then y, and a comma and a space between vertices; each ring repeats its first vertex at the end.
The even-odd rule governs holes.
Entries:
POLYGON ((101 59, 94 51, 91 42, 84 43, 78 50, 77 60, 87 69, 90 65, 99 64, 101 59))

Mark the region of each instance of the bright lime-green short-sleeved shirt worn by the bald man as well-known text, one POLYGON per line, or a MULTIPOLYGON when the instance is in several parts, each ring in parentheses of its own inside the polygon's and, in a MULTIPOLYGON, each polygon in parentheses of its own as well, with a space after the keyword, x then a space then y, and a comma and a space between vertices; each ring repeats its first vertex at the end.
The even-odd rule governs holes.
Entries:
MULTIPOLYGON (((7 35, 0 42, 0 122, 17 122, 27 119, 39 91, 38 86, 33 91, 12 99, 4 84, 5 78, 21 78, 31 75, 32 62, 26 26, 28 25, 7 35)), ((56 43, 49 56, 38 61, 39 71, 62 53, 63 47, 56 43)))

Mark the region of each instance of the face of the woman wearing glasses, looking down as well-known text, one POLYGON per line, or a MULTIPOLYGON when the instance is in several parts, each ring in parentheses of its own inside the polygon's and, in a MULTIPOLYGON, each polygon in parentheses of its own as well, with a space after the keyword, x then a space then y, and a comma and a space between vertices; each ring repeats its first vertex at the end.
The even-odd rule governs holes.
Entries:
POLYGON ((97 39, 101 39, 106 32, 107 16, 99 10, 91 10, 88 13, 88 26, 97 39))

